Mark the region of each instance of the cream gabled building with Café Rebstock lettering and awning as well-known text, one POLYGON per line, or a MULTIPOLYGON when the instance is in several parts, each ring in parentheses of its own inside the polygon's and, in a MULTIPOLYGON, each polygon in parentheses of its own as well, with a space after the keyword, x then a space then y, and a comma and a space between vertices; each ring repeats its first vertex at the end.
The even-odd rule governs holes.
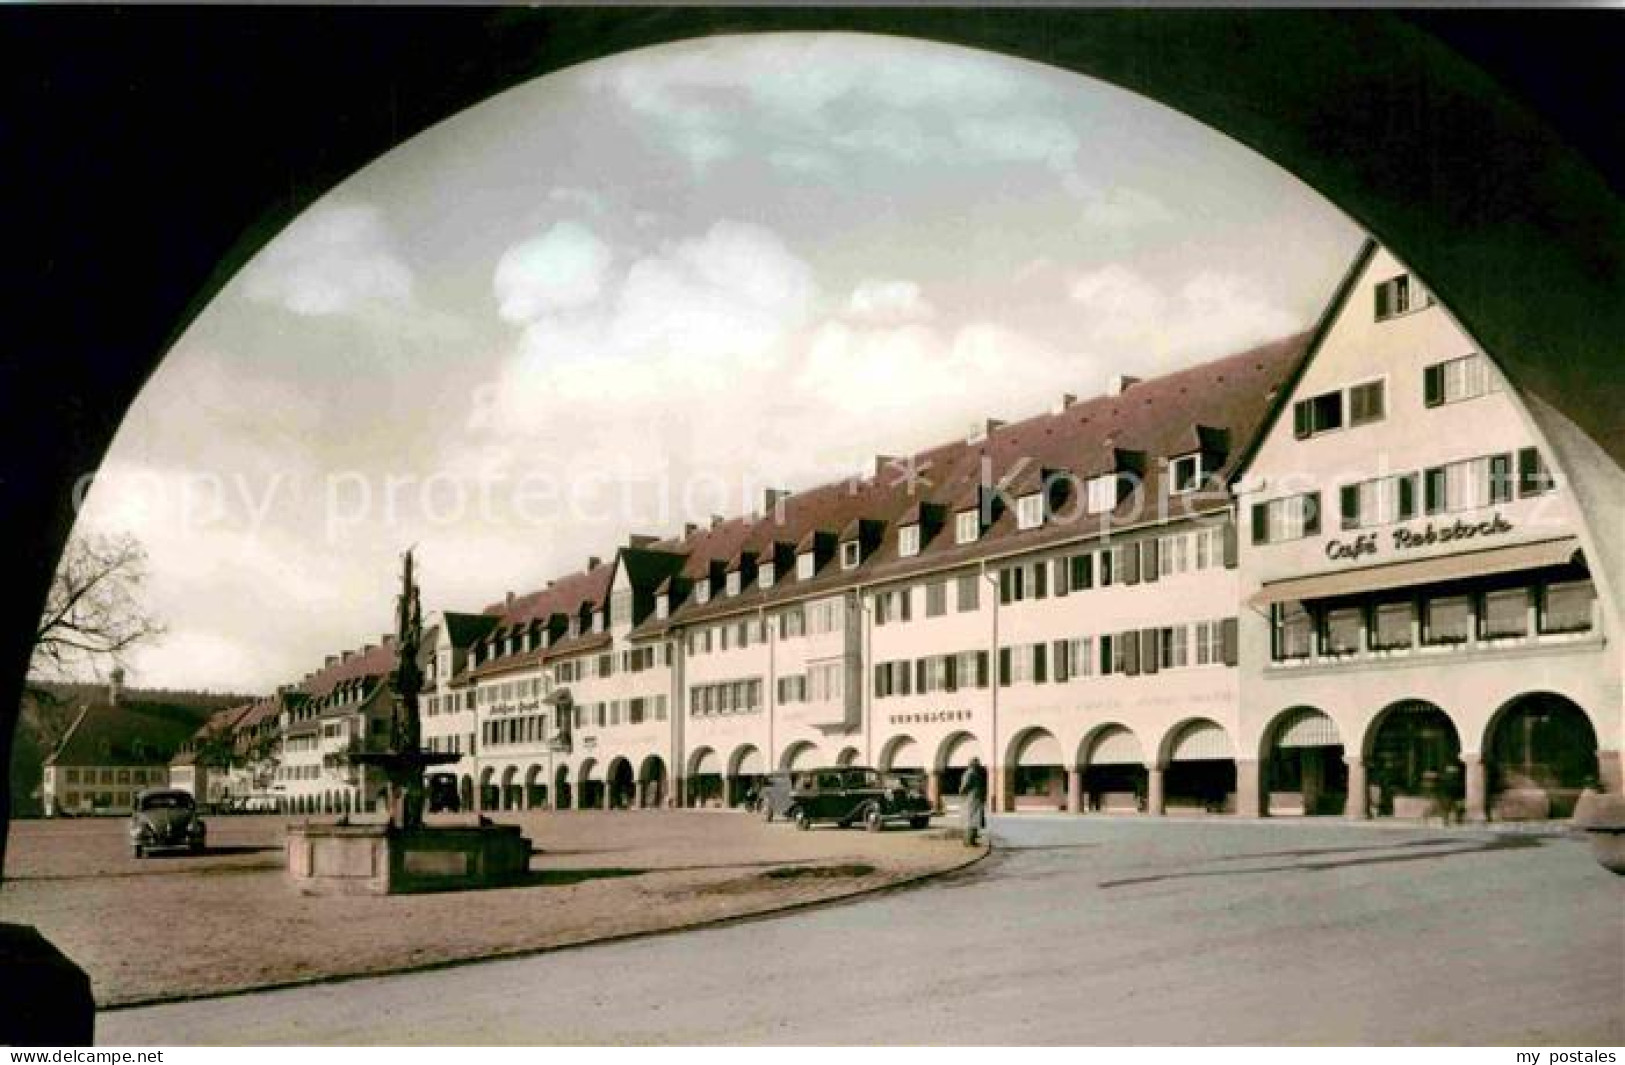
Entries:
POLYGON ((1243 808, 1566 816, 1620 790, 1586 515, 1471 335, 1368 246, 1284 400, 1238 485, 1243 808))

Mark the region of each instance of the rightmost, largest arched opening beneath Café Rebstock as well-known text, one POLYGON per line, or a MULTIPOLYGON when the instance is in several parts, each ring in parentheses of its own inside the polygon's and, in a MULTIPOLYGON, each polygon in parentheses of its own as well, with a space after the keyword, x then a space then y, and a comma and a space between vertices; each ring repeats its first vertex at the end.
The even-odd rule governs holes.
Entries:
POLYGON ((1597 730, 1571 699, 1523 694, 1490 722, 1484 766, 1497 821, 1566 818, 1580 792, 1597 787, 1597 730))

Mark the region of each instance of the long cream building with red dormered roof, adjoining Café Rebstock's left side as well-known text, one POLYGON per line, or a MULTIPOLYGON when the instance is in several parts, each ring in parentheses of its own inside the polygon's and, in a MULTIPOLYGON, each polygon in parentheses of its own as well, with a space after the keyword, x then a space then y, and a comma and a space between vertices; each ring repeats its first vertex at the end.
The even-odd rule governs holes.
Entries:
POLYGON ((1066 397, 492 606, 453 680, 486 805, 733 805, 830 763, 952 795, 980 756, 999 808, 1235 808, 1225 485, 1302 354, 1066 397))

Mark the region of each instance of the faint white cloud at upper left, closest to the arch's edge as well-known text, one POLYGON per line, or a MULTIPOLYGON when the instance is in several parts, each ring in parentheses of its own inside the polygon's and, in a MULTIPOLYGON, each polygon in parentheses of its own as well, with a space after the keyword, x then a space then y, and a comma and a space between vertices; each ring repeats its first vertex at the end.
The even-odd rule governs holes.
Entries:
POLYGON ((244 294, 307 317, 411 301, 413 272, 370 203, 322 203, 280 233, 242 272, 244 294))

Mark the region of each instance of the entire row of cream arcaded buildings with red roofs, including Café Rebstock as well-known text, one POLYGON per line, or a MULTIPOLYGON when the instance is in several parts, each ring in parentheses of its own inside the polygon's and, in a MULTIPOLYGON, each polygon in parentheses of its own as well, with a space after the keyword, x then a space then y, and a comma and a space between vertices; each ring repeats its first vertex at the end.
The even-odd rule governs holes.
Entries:
MULTIPOLYGON (((1300 337, 439 615, 424 743, 481 810, 980 758, 996 810, 1562 816, 1622 787, 1620 619, 1524 403, 1367 246, 1300 337)), ((372 800, 392 667, 280 693, 286 808, 372 800)))

